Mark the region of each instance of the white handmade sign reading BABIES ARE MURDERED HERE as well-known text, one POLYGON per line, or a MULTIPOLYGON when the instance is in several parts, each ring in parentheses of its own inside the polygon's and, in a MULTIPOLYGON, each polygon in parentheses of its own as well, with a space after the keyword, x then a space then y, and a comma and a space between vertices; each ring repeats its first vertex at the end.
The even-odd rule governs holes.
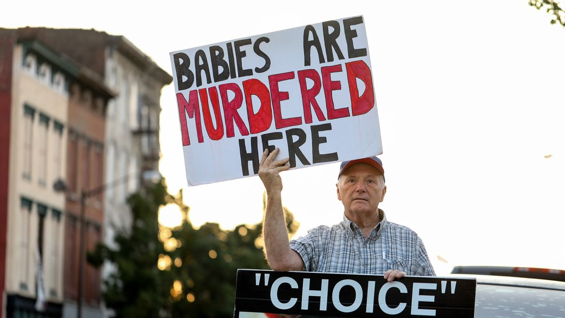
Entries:
POLYGON ((362 16, 171 53, 189 185, 381 154, 362 16))

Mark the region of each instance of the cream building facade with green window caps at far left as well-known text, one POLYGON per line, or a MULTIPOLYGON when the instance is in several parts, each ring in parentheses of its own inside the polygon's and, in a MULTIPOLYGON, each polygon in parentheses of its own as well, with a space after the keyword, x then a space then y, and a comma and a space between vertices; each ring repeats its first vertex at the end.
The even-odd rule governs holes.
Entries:
POLYGON ((66 174, 67 87, 75 66, 14 30, 0 33, 2 63, 11 60, 2 103, 9 99, 10 130, 1 146, 8 156, 8 186, 0 189, 7 225, 3 313, 60 316, 65 199, 53 184, 66 174))

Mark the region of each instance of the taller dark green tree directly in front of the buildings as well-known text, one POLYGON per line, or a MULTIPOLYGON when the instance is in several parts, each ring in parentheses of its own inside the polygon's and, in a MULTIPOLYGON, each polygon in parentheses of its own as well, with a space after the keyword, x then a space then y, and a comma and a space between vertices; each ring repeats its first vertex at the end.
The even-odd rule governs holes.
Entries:
POLYGON ((105 281, 103 298, 118 317, 159 317, 169 304, 163 297, 169 291, 172 275, 157 268, 159 255, 166 254, 158 241, 157 210, 166 204, 168 195, 162 183, 155 184, 146 195, 134 194, 128 199, 133 214, 132 227, 120 231, 112 250, 98 244, 88 261, 101 265, 105 260, 115 265, 115 272, 105 281))

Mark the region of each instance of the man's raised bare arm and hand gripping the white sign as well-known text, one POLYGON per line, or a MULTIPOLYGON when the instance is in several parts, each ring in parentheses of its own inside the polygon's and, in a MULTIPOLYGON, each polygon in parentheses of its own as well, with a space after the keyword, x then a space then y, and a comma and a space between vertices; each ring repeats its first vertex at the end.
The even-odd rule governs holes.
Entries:
POLYGON ((279 148, 271 154, 266 149, 259 163, 259 178, 267 191, 267 208, 263 220, 265 253, 273 270, 302 270, 302 257, 288 243, 288 231, 282 212, 282 180, 279 173, 290 169, 290 165, 288 158, 274 161, 277 154, 279 148))

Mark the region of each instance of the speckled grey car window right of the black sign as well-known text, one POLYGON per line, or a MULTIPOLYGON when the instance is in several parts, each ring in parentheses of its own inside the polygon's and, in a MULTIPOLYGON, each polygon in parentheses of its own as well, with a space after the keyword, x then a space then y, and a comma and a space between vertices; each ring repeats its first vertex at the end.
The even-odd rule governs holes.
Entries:
POLYGON ((477 284, 475 318, 565 318, 565 291, 477 284))

